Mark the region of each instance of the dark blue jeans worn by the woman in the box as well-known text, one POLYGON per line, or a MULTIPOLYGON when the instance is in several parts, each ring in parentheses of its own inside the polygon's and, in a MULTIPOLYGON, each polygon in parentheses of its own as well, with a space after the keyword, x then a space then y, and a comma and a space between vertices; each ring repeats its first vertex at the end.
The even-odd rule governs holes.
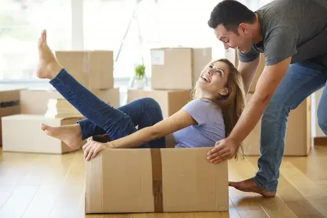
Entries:
MULTIPOLYGON (((154 99, 139 99, 116 109, 78 83, 65 69, 49 83, 87 118, 78 121, 82 139, 107 133, 115 140, 162 120, 161 108, 154 99)), ((138 148, 166 148, 165 137, 138 148)))

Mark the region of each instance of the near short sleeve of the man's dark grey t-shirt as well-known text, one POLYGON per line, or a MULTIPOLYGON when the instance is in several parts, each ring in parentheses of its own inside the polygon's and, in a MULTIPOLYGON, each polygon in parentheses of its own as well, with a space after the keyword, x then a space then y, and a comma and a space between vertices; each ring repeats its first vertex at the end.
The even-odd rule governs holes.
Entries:
POLYGON ((266 65, 274 65, 297 53, 297 31, 292 27, 276 27, 265 41, 266 65))

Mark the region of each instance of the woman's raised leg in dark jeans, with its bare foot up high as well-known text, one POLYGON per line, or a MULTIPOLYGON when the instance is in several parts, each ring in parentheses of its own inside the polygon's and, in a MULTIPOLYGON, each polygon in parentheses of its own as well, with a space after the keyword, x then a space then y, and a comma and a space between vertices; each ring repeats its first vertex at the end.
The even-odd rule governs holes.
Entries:
POLYGON ((37 76, 50 79, 49 83, 71 105, 94 124, 105 129, 113 140, 137 130, 127 114, 99 99, 58 63, 47 45, 45 31, 42 31, 39 39, 38 50, 40 62, 37 76))

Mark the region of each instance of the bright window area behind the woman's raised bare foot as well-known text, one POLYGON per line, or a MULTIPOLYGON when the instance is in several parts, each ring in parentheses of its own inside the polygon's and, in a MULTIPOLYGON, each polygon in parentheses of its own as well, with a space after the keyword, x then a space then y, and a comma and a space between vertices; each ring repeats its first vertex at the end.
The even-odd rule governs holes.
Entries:
POLYGON ((37 39, 46 28, 51 49, 70 49, 67 0, 1 0, 0 79, 35 79, 37 39), (52 36, 52 37, 51 37, 52 36))

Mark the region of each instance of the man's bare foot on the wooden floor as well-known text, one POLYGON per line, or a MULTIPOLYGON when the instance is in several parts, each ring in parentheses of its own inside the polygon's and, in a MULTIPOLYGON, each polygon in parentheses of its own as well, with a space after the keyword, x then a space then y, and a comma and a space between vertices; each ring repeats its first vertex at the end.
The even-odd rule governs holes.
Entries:
POLYGON ((228 185, 232 186, 240 191, 258 193, 264 197, 275 197, 276 196, 276 192, 263 190, 252 179, 247 179, 247 180, 243 180, 240 182, 229 182, 228 185))

